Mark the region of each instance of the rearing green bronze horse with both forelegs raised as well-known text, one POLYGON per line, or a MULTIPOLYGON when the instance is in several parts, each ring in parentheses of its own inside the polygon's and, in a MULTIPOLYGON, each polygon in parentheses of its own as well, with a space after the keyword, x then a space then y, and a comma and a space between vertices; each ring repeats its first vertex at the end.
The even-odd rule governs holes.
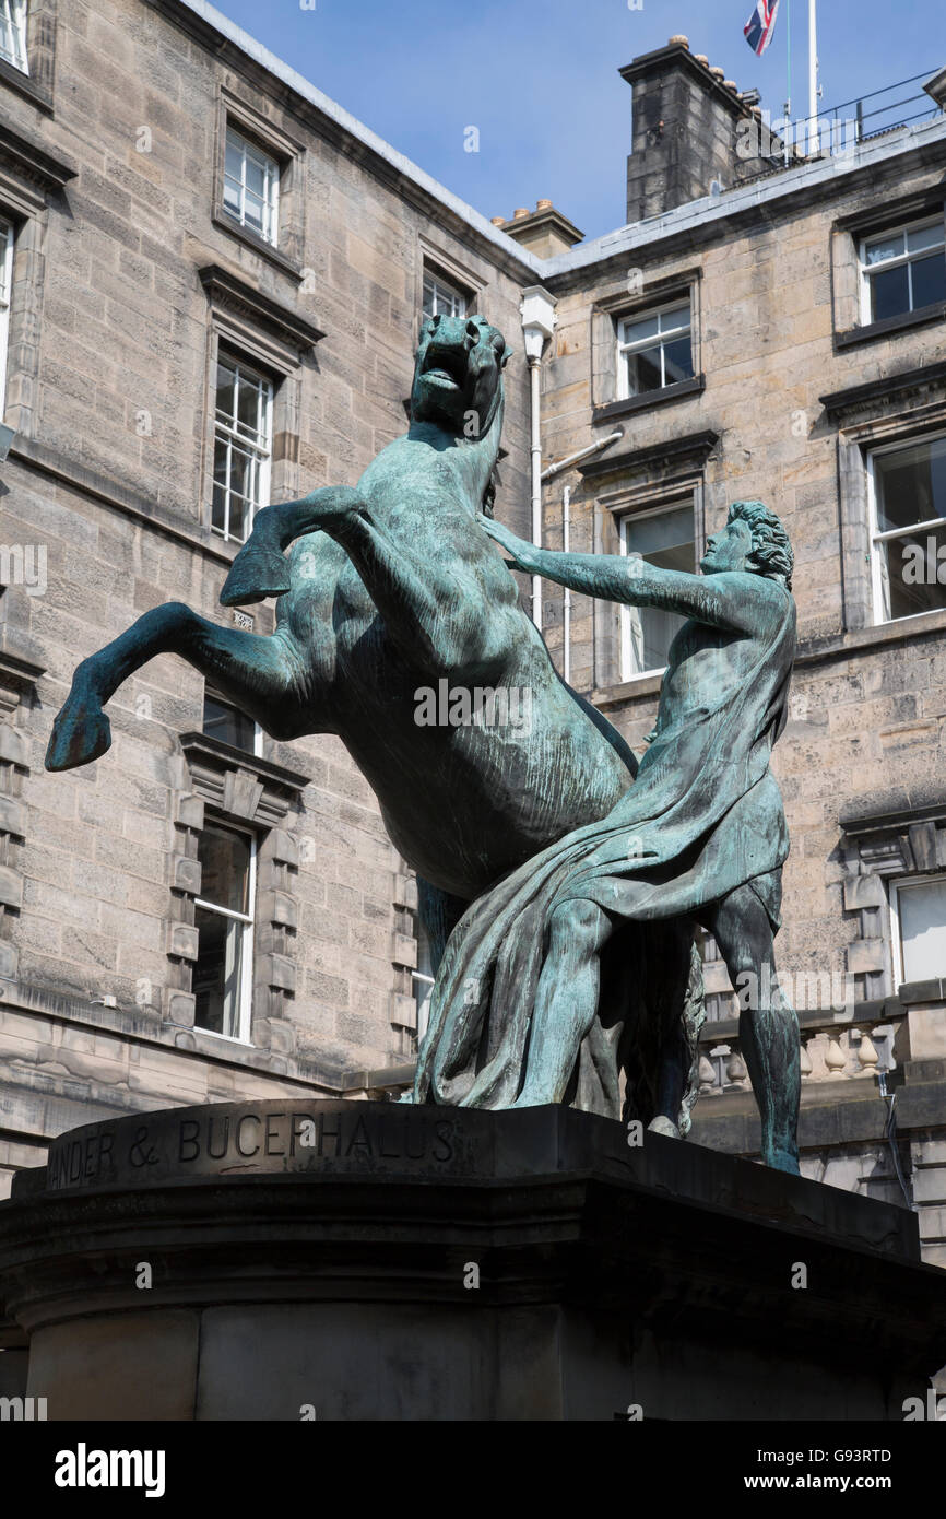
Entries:
MULTIPOLYGON (((273 738, 336 734, 418 872, 434 965, 463 910, 563 834, 604 817, 636 773, 620 734, 557 674, 483 533, 509 348, 483 317, 427 321, 412 421, 358 485, 261 509, 225 606, 278 597, 272 636, 172 602, 82 661, 47 769, 111 744, 103 711, 155 655, 178 653, 273 738), (292 551, 287 554, 292 545, 292 551), (422 688, 527 696, 530 722, 418 720, 422 688)), ((679 1063, 679 1056, 677 1056, 679 1063)), ((651 1083, 653 1086, 653 1083, 651 1083)), ((679 1113, 679 1082, 657 1107, 679 1113)))

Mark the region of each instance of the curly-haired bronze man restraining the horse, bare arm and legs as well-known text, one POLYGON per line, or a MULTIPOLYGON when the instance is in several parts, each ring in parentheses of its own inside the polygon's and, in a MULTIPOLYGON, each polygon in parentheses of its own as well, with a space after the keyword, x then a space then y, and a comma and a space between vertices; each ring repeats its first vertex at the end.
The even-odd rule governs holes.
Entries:
MULTIPOLYGON (((733 793, 735 805, 714 825, 706 880, 691 890, 685 911, 712 933, 733 987, 749 989, 741 998, 749 1006, 739 1013, 739 1042, 762 1120, 762 1159, 777 1170, 797 1173, 799 1022, 779 993, 773 949, 788 842, 780 794, 767 767, 767 753, 784 722, 794 653, 793 554, 785 530, 762 503, 733 503, 726 527, 709 539, 700 565, 703 574, 697 576, 661 570, 638 557, 553 553, 518 539, 500 523, 481 521, 513 567, 527 574, 542 574, 585 595, 679 612, 688 620, 671 644, 661 687, 654 731, 665 738, 661 766, 668 766, 673 743, 679 743, 691 746, 686 766, 692 769, 692 743, 700 741, 708 706, 712 708, 720 693, 738 693, 744 682, 758 682, 753 775, 759 766, 762 770, 743 794, 733 793), (776 708, 782 714, 777 720, 771 715, 776 708), (780 843, 773 842, 779 828, 780 843), (753 861, 767 869, 755 873, 753 861), (724 895, 714 896, 714 881, 726 883, 724 895)), ((727 764, 747 763, 739 747, 746 743, 746 711, 738 708, 738 699, 733 711, 739 718, 733 720, 732 734, 727 737, 726 728, 717 726, 712 755, 706 755, 706 764, 720 766, 723 779, 727 779, 727 764), (730 758, 720 761, 721 750, 730 758)), ((603 826, 613 823, 623 805, 633 802, 645 770, 647 755, 635 785, 603 826)), ((657 794, 659 784, 657 779, 657 794)), ((648 826, 659 837, 659 816, 648 826)), ((621 887, 610 889, 615 901, 618 890, 621 887)), ((653 898, 653 887, 650 890, 653 898)), ((525 1080, 516 1107, 563 1100, 577 1050, 595 1018, 600 952, 615 927, 615 913, 595 895, 610 902, 610 896, 595 887, 586 896, 560 901, 550 914, 525 1080)), ((621 916, 620 907, 616 916, 621 916)), ((624 916, 636 916, 633 905, 624 916)), ((648 910, 641 916, 657 914, 648 910)), ((682 1085, 683 1072, 679 1080, 682 1085)), ((674 1132, 668 1120, 657 1120, 654 1127, 674 1132)))

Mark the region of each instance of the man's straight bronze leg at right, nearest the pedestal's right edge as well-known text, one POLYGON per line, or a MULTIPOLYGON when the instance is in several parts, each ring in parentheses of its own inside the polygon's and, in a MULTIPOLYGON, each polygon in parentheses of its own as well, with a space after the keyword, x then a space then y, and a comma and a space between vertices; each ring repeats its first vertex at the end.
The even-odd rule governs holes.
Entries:
POLYGON ((750 886, 723 898, 706 917, 729 980, 739 990, 739 1044, 762 1120, 762 1161, 799 1174, 799 1019, 776 981, 768 913, 750 886))

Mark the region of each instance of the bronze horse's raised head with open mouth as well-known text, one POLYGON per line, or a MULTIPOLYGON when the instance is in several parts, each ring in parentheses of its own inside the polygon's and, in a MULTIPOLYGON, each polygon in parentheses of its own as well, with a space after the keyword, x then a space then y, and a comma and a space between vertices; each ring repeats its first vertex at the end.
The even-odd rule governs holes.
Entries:
POLYGON ((421 328, 410 409, 459 437, 486 437, 512 349, 483 316, 430 316, 421 328))

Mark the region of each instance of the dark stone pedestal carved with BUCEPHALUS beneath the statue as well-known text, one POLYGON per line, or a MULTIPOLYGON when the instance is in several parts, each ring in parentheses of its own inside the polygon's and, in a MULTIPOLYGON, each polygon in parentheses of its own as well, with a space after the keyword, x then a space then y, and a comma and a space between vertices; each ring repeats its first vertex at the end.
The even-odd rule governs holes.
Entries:
POLYGON ((899 1422, 926 1394, 946 1279, 911 1214, 627 1141, 560 1107, 91 1124, 0 1205, 6 1343, 50 1419, 899 1422))

